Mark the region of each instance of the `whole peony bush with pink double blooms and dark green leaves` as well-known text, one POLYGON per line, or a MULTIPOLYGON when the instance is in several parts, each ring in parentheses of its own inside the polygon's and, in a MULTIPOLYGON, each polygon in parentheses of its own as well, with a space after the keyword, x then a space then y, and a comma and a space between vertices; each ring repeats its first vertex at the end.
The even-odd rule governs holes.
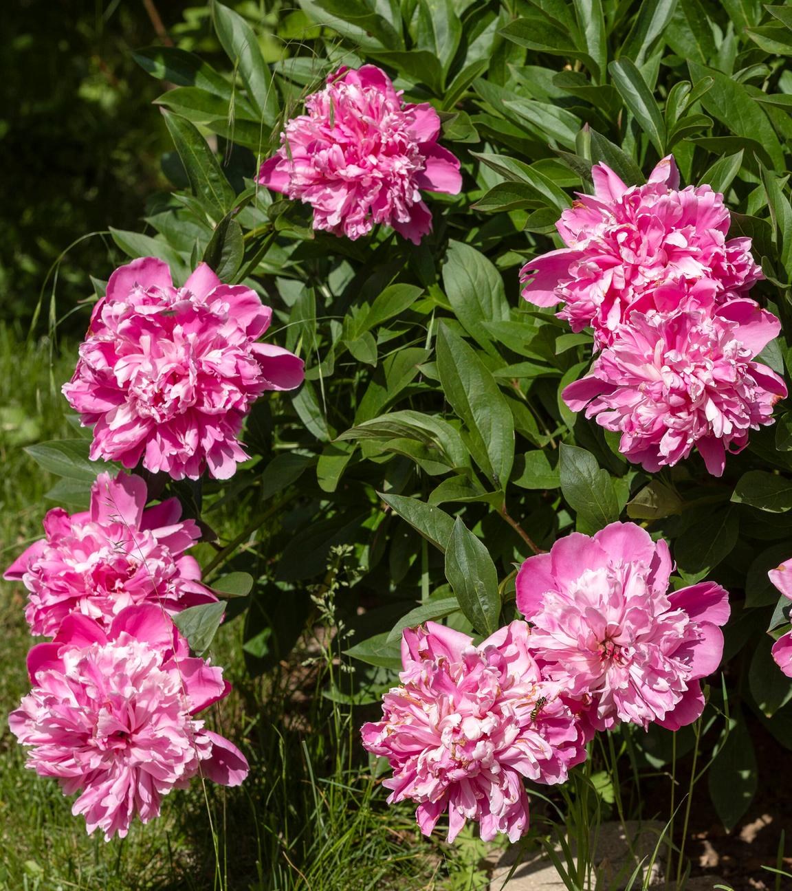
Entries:
POLYGON ((324 604, 324 693, 424 834, 517 841, 614 739, 637 775, 694 737, 731 829, 751 732, 792 748, 792 23, 386 5, 306 2, 265 61, 214 4, 223 72, 138 54, 178 163, 90 271, 86 437, 29 449, 69 485, 6 573, 53 639, 12 732, 123 835, 248 772, 195 717, 217 629, 264 674, 324 604))

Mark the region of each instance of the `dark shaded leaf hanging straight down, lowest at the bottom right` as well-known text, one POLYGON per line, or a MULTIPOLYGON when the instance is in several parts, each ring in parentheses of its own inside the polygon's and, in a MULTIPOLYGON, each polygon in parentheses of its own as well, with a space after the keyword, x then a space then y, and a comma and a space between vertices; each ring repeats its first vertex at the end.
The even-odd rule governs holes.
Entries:
POLYGON ((733 726, 709 769, 709 796, 727 832, 738 824, 754 799, 756 756, 742 716, 733 726))

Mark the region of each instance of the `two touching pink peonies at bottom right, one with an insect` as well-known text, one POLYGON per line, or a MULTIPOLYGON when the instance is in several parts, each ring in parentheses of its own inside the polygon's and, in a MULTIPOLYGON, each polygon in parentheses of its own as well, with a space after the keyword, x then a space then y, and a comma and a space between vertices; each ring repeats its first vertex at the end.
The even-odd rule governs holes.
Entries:
POLYGON ((388 758, 389 802, 418 804, 429 835, 448 812, 514 841, 528 826, 524 779, 563 782, 595 732, 617 723, 676 730, 705 705, 701 679, 723 654, 726 591, 702 582, 668 592, 665 541, 633 523, 573 533, 529 557, 514 621, 474 645, 428 622, 402 640, 401 684, 363 746, 388 758))

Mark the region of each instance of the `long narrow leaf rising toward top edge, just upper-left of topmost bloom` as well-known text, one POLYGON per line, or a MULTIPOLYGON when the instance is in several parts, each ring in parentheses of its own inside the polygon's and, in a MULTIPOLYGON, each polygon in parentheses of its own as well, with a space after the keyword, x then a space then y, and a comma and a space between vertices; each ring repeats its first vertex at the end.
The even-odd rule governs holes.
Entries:
POLYGON ((278 91, 253 29, 241 15, 223 4, 212 4, 212 12, 217 38, 239 71, 248 90, 248 102, 266 124, 273 126, 281 112, 278 91))

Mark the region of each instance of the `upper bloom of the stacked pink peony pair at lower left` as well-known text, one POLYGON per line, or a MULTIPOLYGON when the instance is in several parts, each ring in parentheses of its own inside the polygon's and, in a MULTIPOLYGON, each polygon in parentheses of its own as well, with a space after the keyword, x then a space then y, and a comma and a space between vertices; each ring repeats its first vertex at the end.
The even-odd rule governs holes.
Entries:
POLYGON ((173 615, 217 600, 200 584, 198 563, 184 554, 200 538, 194 520, 179 521, 176 498, 144 511, 146 499, 142 478, 102 473, 91 488, 90 511, 69 516, 59 507, 47 513, 46 537, 20 554, 4 576, 29 591, 31 634, 52 637, 73 612, 107 629, 136 603, 155 603, 173 615))

